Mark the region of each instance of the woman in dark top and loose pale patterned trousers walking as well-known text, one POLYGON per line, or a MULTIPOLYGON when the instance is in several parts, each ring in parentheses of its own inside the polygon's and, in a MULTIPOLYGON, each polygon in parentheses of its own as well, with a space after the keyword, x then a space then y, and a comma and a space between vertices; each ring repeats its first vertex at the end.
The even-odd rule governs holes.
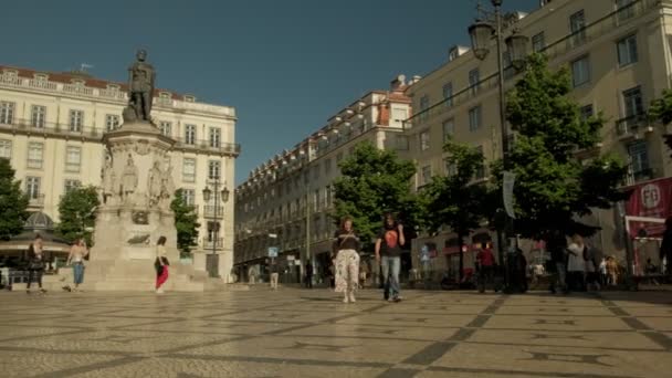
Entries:
POLYGON ((340 221, 340 229, 334 238, 336 251, 336 293, 343 293, 343 303, 355 303, 355 292, 359 284, 359 238, 353 229, 349 217, 340 221))

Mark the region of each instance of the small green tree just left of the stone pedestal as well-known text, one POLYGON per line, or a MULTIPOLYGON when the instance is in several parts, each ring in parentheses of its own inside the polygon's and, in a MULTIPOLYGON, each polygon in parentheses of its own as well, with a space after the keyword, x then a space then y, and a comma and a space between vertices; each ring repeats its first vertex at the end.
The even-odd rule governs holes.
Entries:
POLYGON ((93 231, 96 225, 96 210, 101 201, 95 187, 74 188, 67 191, 59 202, 60 223, 56 233, 72 243, 80 238, 93 245, 93 231))

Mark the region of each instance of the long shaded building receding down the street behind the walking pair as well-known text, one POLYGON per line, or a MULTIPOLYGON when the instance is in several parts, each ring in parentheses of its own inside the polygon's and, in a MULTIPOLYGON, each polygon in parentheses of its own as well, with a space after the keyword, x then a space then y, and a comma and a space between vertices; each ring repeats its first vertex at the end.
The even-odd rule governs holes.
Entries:
POLYGON ((301 281, 306 259, 316 277, 326 273, 336 230, 329 213, 338 164, 361 141, 381 149, 408 148, 401 135, 403 120, 411 115, 406 87, 400 75, 390 91, 368 93, 294 148, 255 168, 235 189, 234 259, 241 279, 265 274, 269 246, 279 248, 285 281, 301 281))

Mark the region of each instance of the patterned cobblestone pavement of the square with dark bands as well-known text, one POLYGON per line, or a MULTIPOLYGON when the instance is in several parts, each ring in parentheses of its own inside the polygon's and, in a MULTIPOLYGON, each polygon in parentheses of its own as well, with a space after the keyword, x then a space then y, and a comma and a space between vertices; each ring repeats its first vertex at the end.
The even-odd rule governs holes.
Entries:
POLYGON ((2 377, 670 377, 672 293, 0 293, 2 377))

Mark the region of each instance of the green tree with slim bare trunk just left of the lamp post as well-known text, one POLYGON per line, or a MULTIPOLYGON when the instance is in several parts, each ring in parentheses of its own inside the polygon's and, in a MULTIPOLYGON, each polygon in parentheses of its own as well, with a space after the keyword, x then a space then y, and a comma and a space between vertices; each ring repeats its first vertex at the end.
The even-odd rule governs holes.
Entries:
POLYGON ((458 234, 460 249, 460 281, 463 277, 464 238, 480 225, 485 218, 487 188, 485 183, 474 181, 476 171, 484 168, 483 154, 475 147, 447 140, 443 151, 448 153, 448 164, 454 167, 449 176, 435 176, 422 188, 420 197, 423 204, 423 224, 434 233, 442 225, 448 225, 458 234))

